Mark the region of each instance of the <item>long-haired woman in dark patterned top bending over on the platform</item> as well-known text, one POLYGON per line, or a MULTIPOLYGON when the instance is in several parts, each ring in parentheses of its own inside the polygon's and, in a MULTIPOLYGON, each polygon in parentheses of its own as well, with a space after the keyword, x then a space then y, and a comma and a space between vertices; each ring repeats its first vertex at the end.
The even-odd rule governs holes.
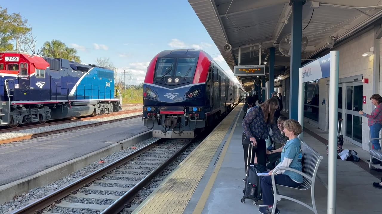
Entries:
POLYGON ((267 158, 265 139, 268 139, 271 128, 278 140, 283 142, 283 137, 277 128, 277 121, 275 121, 274 117, 277 109, 278 99, 272 97, 263 104, 249 109, 242 122, 245 136, 249 137, 249 141, 252 141, 255 147, 257 163, 264 167, 267 158))

